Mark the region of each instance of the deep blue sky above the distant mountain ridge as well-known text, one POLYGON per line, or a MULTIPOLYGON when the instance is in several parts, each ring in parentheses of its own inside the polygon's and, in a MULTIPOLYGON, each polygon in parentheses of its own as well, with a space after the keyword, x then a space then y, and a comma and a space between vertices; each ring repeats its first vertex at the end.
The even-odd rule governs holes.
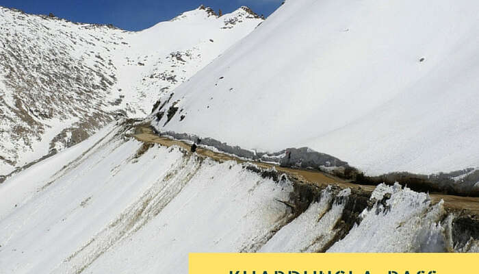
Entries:
POLYGON ((0 5, 27 13, 49 14, 82 23, 113 24, 128 30, 151 27, 204 4, 224 13, 247 5, 268 16, 282 0, 0 0, 0 5))

